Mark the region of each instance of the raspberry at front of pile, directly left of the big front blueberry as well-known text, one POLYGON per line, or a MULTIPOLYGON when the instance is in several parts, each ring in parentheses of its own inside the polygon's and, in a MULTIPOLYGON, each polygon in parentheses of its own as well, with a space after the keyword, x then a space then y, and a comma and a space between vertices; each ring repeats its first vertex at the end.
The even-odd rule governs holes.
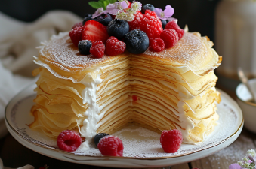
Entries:
POLYGON ((111 36, 106 41, 106 55, 115 56, 125 51, 126 44, 123 41, 119 41, 116 37, 111 36))

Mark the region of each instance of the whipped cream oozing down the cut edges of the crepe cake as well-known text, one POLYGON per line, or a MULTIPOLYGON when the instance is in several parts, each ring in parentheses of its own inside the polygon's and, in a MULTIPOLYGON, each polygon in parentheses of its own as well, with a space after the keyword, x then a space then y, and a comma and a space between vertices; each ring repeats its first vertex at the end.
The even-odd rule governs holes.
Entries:
MULTIPOLYGON (((62 79, 72 80, 73 83, 82 83, 86 86, 85 89, 82 91, 82 97, 83 97, 83 103, 84 104, 86 103, 88 105, 88 109, 83 113, 85 116, 87 116, 87 118, 84 120, 83 126, 81 128, 79 126, 78 127, 79 127, 79 132, 81 136, 85 137, 85 142, 82 143, 82 145, 79 147, 79 150, 84 151, 88 149, 89 147, 88 143, 90 143, 93 137, 97 134, 96 133, 97 128, 99 128, 100 125, 102 125, 101 123, 99 124, 97 123, 100 121, 100 119, 103 118, 104 114, 106 113, 106 111, 100 113, 100 111, 103 109, 105 105, 99 106, 97 104, 97 91, 98 91, 97 85, 103 81, 103 79, 100 78, 101 74, 97 74, 97 77, 94 79, 92 75, 88 73, 83 78, 83 80, 77 81, 73 77, 63 77, 60 74, 57 74, 57 72, 53 71, 49 65, 41 62, 37 57, 34 57, 34 58, 35 58, 34 60, 35 64, 41 65, 42 67, 47 68, 48 71, 51 72, 51 74, 54 74, 54 76, 62 79)), ((118 64, 118 63, 114 63, 114 64, 118 64)), ((106 68, 108 66, 111 66, 111 65, 106 65, 106 66, 92 68, 92 69, 94 71, 100 72, 101 70, 103 70, 103 68, 106 68)), ((183 70, 183 72, 186 72, 189 70, 186 66, 181 66, 180 68, 176 67, 174 69, 181 69, 183 70)), ((184 80, 182 80, 180 76, 178 76, 177 74, 174 74, 174 77, 169 77, 169 78, 175 78, 178 82, 184 82, 184 80)), ((109 80, 108 83, 110 82, 111 80, 109 80)), ((176 127, 183 134, 184 143, 193 143, 191 140, 188 139, 188 137, 189 137, 189 130, 193 129, 194 125, 193 125, 193 122, 187 118, 186 113, 183 110, 183 105, 185 104, 184 102, 185 100, 192 99, 195 96, 191 95, 190 92, 188 92, 184 86, 177 86, 177 88, 174 88, 172 86, 169 86, 168 83, 165 83, 165 81, 159 80, 159 82, 162 83, 162 85, 168 86, 169 88, 174 89, 174 91, 179 93, 178 95, 180 97, 180 101, 177 104, 178 112, 176 111, 173 111, 173 112, 177 116, 179 116, 181 128, 179 126, 176 126, 176 127), (186 128, 186 129, 184 130, 182 128, 186 128)), ((140 83, 140 82, 138 81, 136 82, 136 80, 128 80, 127 82, 125 82, 124 86, 134 84, 134 83, 140 83)), ((212 87, 212 89, 215 89, 215 88, 212 87)), ((203 91, 199 95, 202 97, 202 95, 204 95, 205 92, 206 91, 203 91)), ((109 95, 110 94, 111 93, 109 93, 109 95)), ((132 105, 132 101, 131 101, 131 105, 132 105)))

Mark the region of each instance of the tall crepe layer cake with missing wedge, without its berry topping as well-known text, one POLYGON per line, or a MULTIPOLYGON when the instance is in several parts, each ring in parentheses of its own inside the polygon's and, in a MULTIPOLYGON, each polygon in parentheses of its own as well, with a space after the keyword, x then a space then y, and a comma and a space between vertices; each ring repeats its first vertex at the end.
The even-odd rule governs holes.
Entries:
POLYGON ((94 59, 80 56, 67 33, 54 36, 35 57, 42 68, 33 71, 40 77, 29 127, 50 137, 75 129, 90 140, 133 122, 159 132, 177 128, 185 143, 202 142, 214 131, 221 101, 213 71, 221 57, 212 45, 186 32, 160 53, 94 59))

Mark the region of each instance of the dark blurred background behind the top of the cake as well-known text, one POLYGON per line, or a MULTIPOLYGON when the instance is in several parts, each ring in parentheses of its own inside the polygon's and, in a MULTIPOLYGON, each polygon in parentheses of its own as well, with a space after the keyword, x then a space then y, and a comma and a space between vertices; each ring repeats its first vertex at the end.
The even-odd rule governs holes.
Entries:
MULTIPOLYGON (((190 32, 200 32, 214 41, 214 11, 220 0, 140 0, 165 9, 165 5, 174 8, 173 17, 178 19, 181 28, 187 24, 190 32)), ((0 0, 0 11, 17 20, 32 22, 51 10, 68 10, 83 17, 93 14, 95 9, 88 0, 0 0)), ((1 23, 0 23, 1 26, 1 23)))

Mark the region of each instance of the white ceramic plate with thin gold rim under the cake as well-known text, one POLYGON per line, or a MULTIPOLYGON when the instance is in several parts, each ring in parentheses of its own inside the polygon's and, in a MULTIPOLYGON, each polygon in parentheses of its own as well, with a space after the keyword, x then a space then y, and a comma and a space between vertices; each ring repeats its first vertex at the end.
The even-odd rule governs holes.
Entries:
POLYGON ((153 131, 130 125, 116 132, 124 144, 123 157, 109 157, 100 154, 91 144, 86 152, 64 152, 57 149, 56 140, 32 131, 27 126, 33 121, 29 115, 35 98, 35 84, 16 95, 5 110, 5 122, 11 135, 23 146, 42 155, 78 164, 102 167, 164 167, 204 158, 229 146, 242 131, 243 117, 239 106, 225 92, 221 92, 221 104, 217 104, 220 115, 218 125, 203 143, 182 144, 178 152, 163 152, 159 137, 153 131))

